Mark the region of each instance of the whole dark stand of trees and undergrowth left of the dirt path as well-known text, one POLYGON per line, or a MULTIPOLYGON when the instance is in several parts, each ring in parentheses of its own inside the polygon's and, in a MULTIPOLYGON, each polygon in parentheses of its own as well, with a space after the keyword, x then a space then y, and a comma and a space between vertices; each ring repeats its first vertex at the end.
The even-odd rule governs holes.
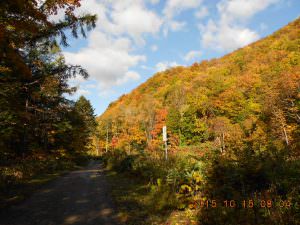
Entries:
MULTIPOLYGON (((88 77, 65 63, 60 46, 66 32, 77 38, 96 17, 77 17, 79 1, 0 2, 0 200, 43 172, 72 166, 90 150, 96 126, 90 102, 67 98, 75 76, 88 77), (51 16, 64 8, 64 20, 51 16)), ((1 202, 1 206, 5 205, 1 202)))

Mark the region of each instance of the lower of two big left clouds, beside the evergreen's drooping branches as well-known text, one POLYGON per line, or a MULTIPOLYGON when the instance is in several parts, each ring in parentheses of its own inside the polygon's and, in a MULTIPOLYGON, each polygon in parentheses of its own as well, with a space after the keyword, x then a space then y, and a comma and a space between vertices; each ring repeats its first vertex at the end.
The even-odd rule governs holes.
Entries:
POLYGON ((130 54, 130 40, 112 39, 100 31, 92 31, 89 45, 79 52, 65 52, 67 63, 79 64, 87 68, 90 78, 103 87, 119 85, 137 76, 129 73, 131 67, 145 61, 143 55, 130 54))

